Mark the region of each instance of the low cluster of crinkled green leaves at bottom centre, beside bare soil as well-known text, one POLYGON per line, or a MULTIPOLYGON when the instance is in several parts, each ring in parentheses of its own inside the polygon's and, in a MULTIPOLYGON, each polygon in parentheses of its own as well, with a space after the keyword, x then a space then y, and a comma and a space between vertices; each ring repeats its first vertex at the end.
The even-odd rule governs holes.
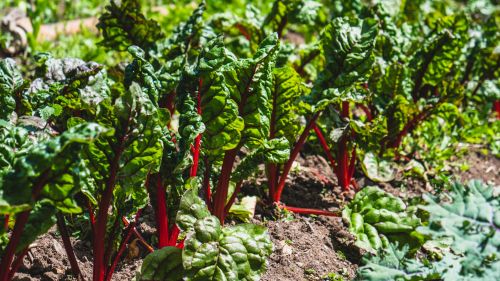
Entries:
MULTIPOLYGON (((181 199, 177 222, 186 232, 182 250, 185 280, 259 280, 272 244, 265 228, 253 224, 222 227, 219 219, 210 215, 194 187, 181 199)), ((139 280, 147 276, 167 276, 176 279, 181 250, 166 247, 150 254, 141 269, 139 280), (170 262, 168 267, 159 265, 170 262), (149 274, 149 275, 145 275, 149 274)), ((162 279, 163 280, 163 279, 162 279)), ((170 279, 167 279, 170 280, 170 279)), ((179 279, 180 280, 180 279, 179 279)))

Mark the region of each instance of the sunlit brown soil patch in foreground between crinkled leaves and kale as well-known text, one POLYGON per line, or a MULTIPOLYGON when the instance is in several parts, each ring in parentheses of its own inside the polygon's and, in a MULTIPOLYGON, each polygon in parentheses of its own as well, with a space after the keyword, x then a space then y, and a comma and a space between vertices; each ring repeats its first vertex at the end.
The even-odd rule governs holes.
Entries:
POLYGON ((262 280, 323 280, 332 273, 354 278, 357 266, 346 258, 345 248, 338 247, 334 238, 339 224, 339 218, 324 222, 306 217, 268 222, 274 252, 262 280))

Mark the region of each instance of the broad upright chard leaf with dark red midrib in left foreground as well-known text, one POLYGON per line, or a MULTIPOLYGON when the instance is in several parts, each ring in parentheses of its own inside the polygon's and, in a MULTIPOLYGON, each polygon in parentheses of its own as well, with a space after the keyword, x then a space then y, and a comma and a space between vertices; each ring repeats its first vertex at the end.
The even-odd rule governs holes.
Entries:
POLYGON ((113 106, 108 103, 100 105, 97 121, 115 130, 114 134, 99 139, 87 150, 86 160, 96 189, 87 195, 100 194, 116 186, 115 196, 122 198, 116 201, 117 204, 137 200, 133 209, 140 208, 146 203, 146 176, 158 171, 162 159, 160 137, 164 114, 136 83, 121 93, 113 106), (111 187, 110 181, 113 181, 111 187))

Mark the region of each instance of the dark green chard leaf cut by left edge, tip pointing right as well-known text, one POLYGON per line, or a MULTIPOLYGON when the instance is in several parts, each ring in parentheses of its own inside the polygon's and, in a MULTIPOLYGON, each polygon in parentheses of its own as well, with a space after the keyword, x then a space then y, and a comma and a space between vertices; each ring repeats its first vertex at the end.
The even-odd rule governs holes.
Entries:
POLYGON ((65 212, 79 212, 72 196, 86 180, 81 178, 85 170, 82 150, 105 134, 108 130, 102 126, 81 124, 16 153, 12 168, 1 182, 0 213, 31 209, 37 201, 65 212))

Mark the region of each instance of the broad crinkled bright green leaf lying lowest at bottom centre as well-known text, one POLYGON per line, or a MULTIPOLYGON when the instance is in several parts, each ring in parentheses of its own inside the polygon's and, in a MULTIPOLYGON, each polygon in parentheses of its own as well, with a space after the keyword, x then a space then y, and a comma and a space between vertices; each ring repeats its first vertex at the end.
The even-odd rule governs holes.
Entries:
MULTIPOLYGON (((191 209, 206 209, 195 192, 187 191, 183 200, 194 200, 191 209)), ((259 279, 272 249, 265 228, 252 224, 222 228, 218 218, 200 212, 189 220, 192 223, 179 225, 187 232, 183 265, 188 280, 259 279)))

